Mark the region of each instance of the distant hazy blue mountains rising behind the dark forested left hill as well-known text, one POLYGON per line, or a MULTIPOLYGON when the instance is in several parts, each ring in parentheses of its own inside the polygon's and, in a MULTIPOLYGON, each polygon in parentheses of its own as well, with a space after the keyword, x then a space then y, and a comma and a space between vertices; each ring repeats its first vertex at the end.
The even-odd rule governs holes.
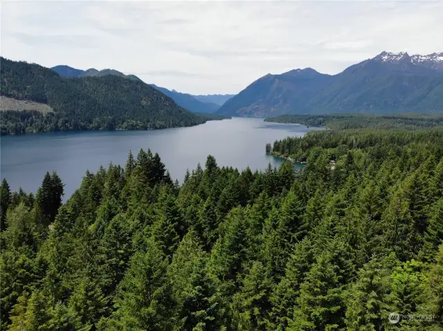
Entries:
MULTIPOLYGON (((55 66, 51 69, 62 77, 100 77, 105 75, 116 75, 141 81, 141 79, 136 75, 125 75, 124 73, 120 73, 120 71, 114 69, 97 70, 95 68, 90 68, 88 70, 81 70, 66 65, 55 66)), ((233 97, 233 95, 190 95, 188 93, 180 93, 175 90, 170 91, 168 88, 156 86, 154 84, 150 85, 157 91, 161 91, 161 93, 168 95, 168 97, 174 100, 174 102, 179 106, 182 106, 183 108, 188 109, 188 111, 192 111, 194 113, 215 113, 215 111, 217 111, 218 108, 220 108, 220 106, 226 102, 226 100, 233 97)))

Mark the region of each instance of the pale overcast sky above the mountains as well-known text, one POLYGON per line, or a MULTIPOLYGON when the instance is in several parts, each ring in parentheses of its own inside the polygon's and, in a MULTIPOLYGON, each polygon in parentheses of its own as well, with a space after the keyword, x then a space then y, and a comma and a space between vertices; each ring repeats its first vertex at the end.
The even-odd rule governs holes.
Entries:
POLYGON ((1 1, 1 56, 113 68, 192 94, 443 51, 443 1, 1 1))

